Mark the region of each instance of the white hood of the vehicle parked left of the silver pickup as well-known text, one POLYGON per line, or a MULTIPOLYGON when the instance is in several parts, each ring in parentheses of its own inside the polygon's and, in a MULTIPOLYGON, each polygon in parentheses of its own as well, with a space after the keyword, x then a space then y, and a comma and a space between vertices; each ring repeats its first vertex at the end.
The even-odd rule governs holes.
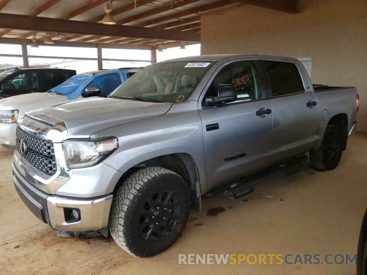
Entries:
POLYGON ((10 96, 0 100, 0 110, 19 110, 19 115, 25 112, 67 102, 63 95, 49 93, 31 93, 25 95, 10 96))

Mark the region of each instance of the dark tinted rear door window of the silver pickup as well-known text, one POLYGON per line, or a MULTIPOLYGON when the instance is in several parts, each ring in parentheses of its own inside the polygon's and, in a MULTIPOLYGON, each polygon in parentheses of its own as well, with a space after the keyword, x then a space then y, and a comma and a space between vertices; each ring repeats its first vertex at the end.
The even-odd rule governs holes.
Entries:
POLYGON ((272 96, 284 96, 304 92, 305 87, 294 63, 264 61, 272 96))

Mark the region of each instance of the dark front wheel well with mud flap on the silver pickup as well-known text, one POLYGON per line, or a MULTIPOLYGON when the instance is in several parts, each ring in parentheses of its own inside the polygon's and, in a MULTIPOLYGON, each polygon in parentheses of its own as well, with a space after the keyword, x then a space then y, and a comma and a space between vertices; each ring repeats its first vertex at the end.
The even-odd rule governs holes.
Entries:
POLYGON ((126 172, 120 177, 119 181, 114 187, 113 194, 116 194, 117 189, 130 175, 132 175, 132 173, 141 168, 149 166, 163 167, 172 170, 181 176, 186 184, 188 184, 190 190, 191 209, 198 212, 201 211, 201 184, 199 170, 197 168, 195 159, 188 153, 160 155, 158 157, 146 159, 145 161, 132 166, 131 168, 127 169, 126 172))

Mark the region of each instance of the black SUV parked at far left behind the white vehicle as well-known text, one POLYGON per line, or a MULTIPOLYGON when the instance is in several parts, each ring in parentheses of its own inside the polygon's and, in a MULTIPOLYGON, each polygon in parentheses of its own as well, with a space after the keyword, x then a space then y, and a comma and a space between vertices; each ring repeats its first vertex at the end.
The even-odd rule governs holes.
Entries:
POLYGON ((75 70, 34 68, 0 73, 0 99, 33 92, 46 92, 75 76, 75 70))

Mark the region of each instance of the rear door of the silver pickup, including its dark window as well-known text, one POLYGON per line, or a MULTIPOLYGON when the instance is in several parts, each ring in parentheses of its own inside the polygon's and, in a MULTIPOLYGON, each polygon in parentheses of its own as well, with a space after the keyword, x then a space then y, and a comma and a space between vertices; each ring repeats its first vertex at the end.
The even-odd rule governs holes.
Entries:
POLYGON ((272 158, 280 161, 304 154, 315 143, 319 123, 317 100, 309 78, 299 62, 268 59, 261 63, 271 91, 272 158))

